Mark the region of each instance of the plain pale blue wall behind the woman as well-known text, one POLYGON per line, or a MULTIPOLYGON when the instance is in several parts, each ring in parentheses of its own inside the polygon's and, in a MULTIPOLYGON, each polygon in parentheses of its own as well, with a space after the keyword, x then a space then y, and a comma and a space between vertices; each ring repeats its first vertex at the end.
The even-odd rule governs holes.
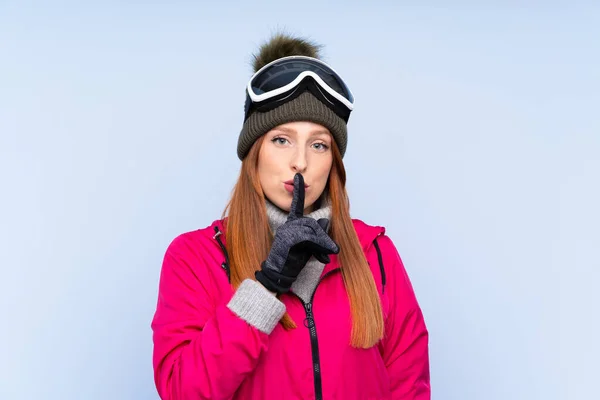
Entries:
POLYGON ((278 28, 357 98, 352 214, 404 258, 434 399, 600 398, 600 8, 445 3, 0 2, 0 398, 157 399, 162 256, 221 215, 278 28))

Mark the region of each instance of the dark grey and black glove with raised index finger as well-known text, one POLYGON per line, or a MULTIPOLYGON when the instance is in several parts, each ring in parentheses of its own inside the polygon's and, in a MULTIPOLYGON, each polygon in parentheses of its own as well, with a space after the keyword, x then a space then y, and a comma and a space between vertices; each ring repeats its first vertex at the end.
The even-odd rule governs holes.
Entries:
POLYGON ((285 293, 310 257, 323 264, 329 254, 338 254, 338 245, 327 235, 327 218, 318 221, 304 216, 304 178, 294 176, 294 197, 287 221, 277 229, 269 256, 256 272, 256 280, 268 290, 285 293))

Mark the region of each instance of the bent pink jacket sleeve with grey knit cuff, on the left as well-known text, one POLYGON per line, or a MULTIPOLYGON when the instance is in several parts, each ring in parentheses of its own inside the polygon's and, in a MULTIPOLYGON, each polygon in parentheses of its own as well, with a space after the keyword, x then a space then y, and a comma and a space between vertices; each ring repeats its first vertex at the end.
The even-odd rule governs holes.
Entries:
POLYGON ((152 320, 156 388, 163 400, 230 399, 285 306, 252 280, 228 304, 215 304, 213 266, 190 247, 180 236, 163 260, 152 320))

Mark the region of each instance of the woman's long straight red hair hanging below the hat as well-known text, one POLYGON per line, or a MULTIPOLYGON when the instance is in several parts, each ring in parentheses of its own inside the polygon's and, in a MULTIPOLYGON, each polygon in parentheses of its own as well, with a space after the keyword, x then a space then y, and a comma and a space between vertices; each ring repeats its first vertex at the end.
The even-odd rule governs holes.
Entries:
MULTIPOLYGON (((258 155, 264 136, 260 137, 242 161, 239 178, 224 215, 227 215, 227 249, 231 283, 237 288, 267 258, 272 242, 265 208, 265 195, 258 177, 258 155)), ((346 170, 341 154, 332 141, 333 165, 326 188, 331 206, 331 238, 340 246, 338 261, 352 314, 350 344, 369 348, 383 337, 383 311, 373 275, 350 218, 346 192, 346 170)), ((281 320, 284 328, 296 327, 288 314, 281 320)))

